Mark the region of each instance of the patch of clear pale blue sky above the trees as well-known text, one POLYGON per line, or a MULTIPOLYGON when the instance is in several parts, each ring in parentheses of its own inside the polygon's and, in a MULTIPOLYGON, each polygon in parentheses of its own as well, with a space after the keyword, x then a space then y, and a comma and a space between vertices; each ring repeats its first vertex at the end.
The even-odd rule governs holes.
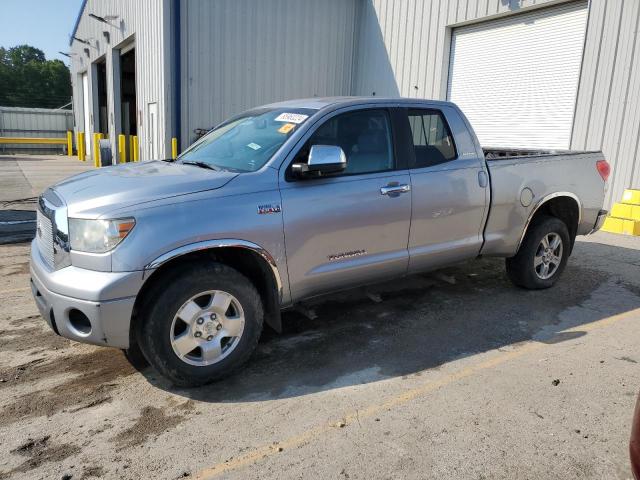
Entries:
POLYGON ((32 45, 69 65, 69 35, 82 0, 0 0, 0 47, 32 45))

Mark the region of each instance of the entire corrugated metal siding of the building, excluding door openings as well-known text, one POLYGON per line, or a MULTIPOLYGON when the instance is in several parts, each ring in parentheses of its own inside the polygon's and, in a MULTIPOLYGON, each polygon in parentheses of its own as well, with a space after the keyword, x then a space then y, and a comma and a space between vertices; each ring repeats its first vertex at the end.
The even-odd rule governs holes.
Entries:
MULTIPOLYGON (((181 0, 183 145, 194 128, 284 98, 375 94, 444 99, 453 28, 561 3, 568 2, 181 0)), ((78 74, 108 48, 135 37, 140 147, 145 151, 144 110, 157 103, 161 154, 169 154, 172 4, 88 0, 77 36, 90 45, 74 42, 72 47, 76 125, 84 123, 78 74), (105 25, 87 17, 88 12, 118 19, 105 25), (103 31, 110 33, 110 45, 103 31), (89 48, 88 57, 84 48, 89 48)), ((604 150, 614 167, 608 203, 619 199, 625 187, 640 188, 639 6, 637 1, 590 1, 571 148, 604 150)))

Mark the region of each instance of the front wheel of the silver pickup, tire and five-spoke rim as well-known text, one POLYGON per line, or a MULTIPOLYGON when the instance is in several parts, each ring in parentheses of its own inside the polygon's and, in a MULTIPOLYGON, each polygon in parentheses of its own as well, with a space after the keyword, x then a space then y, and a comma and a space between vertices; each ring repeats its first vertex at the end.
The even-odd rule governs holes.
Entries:
POLYGON ((228 376, 258 344, 262 300, 255 286, 227 265, 183 268, 170 282, 160 282, 151 298, 136 340, 151 366, 174 385, 197 387, 228 376))

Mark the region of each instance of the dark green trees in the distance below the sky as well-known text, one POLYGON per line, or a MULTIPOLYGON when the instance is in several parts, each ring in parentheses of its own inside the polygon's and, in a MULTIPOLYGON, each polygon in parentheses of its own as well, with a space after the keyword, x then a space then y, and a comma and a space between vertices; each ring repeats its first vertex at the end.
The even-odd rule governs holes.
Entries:
POLYGON ((0 106, 58 108, 71 101, 69 69, 29 45, 0 47, 0 106))

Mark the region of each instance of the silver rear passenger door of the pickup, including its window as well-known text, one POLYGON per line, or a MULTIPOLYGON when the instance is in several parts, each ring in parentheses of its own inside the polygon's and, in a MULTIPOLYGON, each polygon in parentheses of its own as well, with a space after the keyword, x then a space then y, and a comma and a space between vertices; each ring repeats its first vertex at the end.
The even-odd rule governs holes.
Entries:
POLYGON ((456 109, 405 112, 413 147, 409 271, 473 258, 482 247, 490 193, 481 150, 456 109))

